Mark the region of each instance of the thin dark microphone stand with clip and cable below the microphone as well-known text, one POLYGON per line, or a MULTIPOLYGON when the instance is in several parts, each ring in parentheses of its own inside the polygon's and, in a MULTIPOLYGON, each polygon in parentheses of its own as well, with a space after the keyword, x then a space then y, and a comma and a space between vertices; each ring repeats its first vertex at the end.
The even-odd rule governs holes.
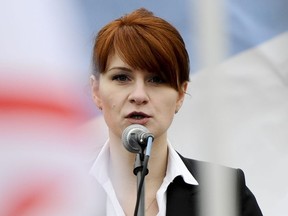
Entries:
POLYGON ((152 149, 153 137, 149 136, 147 144, 141 145, 141 151, 136 155, 133 173, 137 176, 137 200, 134 216, 145 215, 145 176, 148 174, 148 161, 152 149), (143 147, 142 147, 143 146, 143 147), (147 146, 145 155, 144 150, 147 146))

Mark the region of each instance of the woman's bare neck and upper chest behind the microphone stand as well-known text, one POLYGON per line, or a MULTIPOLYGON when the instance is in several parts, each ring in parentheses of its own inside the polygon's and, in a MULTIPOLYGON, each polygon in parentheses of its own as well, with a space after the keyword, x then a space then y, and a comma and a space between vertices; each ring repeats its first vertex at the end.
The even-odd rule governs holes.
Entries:
MULTIPOLYGON (((109 145, 112 184, 122 208, 127 215, 130 215, 134 210, 134 205, 131 203, 136 201, 137 194, 137 177, 133 173, 136 154, 128 152, 122 145, 121 139, 111 134, 109 145)), ((145 177, 145 203, 149 205, 151 211, 158 212, 155 202, 156 193, 166 174, 167 155, 166 135, 162 138, 155 138, 148 164, 149 174, 145 177)))

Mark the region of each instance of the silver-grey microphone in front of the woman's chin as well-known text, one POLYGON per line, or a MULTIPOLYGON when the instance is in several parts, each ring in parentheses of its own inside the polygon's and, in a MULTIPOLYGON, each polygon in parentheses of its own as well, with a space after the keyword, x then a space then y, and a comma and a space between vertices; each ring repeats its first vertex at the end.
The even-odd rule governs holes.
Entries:
POLYGON ((146 127, 140 124, 132 124, 123 131, 122 143, 128 151, 139 153, 146 148, 149 137, 151 137, 152 140, 154 139, 154 136, 146 127))

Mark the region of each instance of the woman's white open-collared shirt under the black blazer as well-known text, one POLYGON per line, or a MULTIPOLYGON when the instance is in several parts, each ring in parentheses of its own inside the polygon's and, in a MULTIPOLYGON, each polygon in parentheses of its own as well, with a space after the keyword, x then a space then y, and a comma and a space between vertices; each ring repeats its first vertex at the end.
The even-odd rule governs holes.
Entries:
MULTIPOLYGON (((109 158, 109 144, 107 141, 100 151, 96 161, 94 162, 90 170, 90 174, 95 177, 95 179, 99 182, 107 194, 106 215, 125 216, 125 213, 116 197, 115 190, 109 177, 109 158)), ((168 164, 166 176, 164 177, 162 185, 156 194, 159 208, 157 216, 166 215, 167 188, 177 176, 182 176, 187 184, 198 185, 198 182, 189 172, 180 156, 173 149, 172 145, 168 143, 168 164)))

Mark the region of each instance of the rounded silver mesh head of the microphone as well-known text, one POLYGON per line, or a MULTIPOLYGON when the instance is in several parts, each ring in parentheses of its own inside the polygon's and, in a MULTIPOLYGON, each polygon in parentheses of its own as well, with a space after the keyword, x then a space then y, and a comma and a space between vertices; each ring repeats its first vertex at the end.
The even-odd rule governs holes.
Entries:
POLYGON ((128 126, 122 133, 122 143, 124 147, 132 153, 139 153, 141 146, 138 136, 143 133, 149 133, 149 130, 143 125, 132 124, 128 126))

